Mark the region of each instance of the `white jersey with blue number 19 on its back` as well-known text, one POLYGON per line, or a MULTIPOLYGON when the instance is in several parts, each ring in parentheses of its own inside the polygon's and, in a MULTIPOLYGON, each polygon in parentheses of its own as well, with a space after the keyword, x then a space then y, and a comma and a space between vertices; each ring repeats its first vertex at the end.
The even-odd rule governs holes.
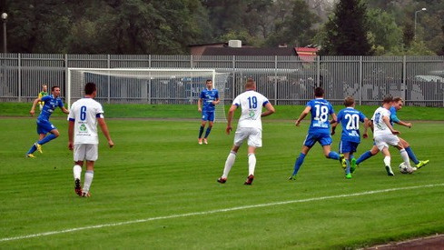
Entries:
POLYGON ((261 114, 262 106, 269 103, 267 97, 254 90, 247 90, 236 96, 232 105, 241 106, 242 115, 239 118, 239 127, 254 127, 262 129, 261 114))

